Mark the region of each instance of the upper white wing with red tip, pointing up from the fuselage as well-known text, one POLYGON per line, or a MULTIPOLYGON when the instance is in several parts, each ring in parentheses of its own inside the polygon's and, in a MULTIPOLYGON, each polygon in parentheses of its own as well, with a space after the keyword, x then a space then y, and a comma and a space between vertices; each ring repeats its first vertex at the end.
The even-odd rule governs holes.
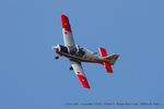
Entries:
POLYGON ((66 15, 61 15, 62 35, 65 46, 74 46, 74 39, 69 23, 69 19, 66 15))

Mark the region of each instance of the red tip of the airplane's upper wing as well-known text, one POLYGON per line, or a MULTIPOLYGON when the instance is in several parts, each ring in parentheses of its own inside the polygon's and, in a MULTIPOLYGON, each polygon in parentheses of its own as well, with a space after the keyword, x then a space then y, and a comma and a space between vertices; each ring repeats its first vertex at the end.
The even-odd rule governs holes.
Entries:
POLYGON ((69 19, 68 16, 63 14, 61 14, 61 25, 62 25, 62 28, 65 28, 66 31, 69 31, 70 33, 72 32, 70 23, 69 23, 69 19))

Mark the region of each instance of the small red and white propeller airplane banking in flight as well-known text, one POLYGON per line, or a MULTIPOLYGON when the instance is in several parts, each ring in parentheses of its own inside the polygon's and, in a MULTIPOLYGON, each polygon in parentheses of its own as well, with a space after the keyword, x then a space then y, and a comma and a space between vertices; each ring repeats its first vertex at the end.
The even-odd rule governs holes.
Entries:
POLYGON ((62 35, 63 43, 62 45, 52 46, 55 52, 58 53, 55 59, 59 59, 59 57, 66 57, 70 60, 71 66, 70 70, 74 70, 81 85, 85 88, 91 88, 86 76, 84 74, 81 62, 92 62, 92 63, 101 63, 105 65, 106 72, 113 73, 112 65, 115 64, 119 55, 110 55, 107 56, 107 51, 105 48, 99 47, 101 56, 97 56, 96 52, 92 52, 86 48, 80 47, 75 45, 71 26, 69 23, 68 16, 61 14, 61 26, 62 26, 62 35))

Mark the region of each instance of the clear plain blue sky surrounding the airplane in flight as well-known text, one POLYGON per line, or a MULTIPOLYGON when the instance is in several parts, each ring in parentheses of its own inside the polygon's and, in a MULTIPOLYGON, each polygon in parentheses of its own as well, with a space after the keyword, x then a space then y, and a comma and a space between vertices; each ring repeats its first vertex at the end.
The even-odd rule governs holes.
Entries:
POLYGON ((163 0, 0 1, 1 109, 162 109, 164 105, 163 0), (119 53, 114 74, 83 63, 91 89, 70 62, 55 60, 63 44, 60 14, 78 45, 119 53), (67 102, 160 102, 160 106, 68 106, 67 102))

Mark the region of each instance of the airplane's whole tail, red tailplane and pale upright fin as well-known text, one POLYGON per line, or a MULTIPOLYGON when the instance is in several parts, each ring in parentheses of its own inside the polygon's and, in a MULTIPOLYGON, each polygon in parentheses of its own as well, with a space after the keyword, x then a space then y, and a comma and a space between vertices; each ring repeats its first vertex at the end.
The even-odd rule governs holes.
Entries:
POLYGON ((106 72, 113 73, 112 65, 114 65, 119 55, 107 56, 106 49, 102 47, 99 47, 99 52, 101 52, 101 57, 104 58, 105 60, 103 64, 105 65, 106 72))

